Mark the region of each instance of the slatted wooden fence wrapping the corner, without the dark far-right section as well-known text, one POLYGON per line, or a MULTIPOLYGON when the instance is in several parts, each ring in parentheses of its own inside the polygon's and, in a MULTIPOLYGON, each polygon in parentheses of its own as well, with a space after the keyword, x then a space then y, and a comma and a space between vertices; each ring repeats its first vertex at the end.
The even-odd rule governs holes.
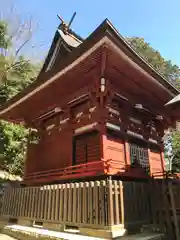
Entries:
POLYGON ((145 185, 107 180, 14 188, 5 191, 1 215, 95 228, 143 223, 150 219, 149 205, 141 203, 148 200, 145 185))

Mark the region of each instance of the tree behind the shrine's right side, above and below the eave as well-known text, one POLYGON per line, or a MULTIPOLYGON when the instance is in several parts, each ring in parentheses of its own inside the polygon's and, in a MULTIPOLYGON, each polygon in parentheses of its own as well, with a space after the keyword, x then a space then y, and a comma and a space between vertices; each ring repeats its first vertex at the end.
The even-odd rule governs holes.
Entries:
MULTIPOLYGON (((127 41, 140 56, 180 89, 180 69, 177 65, 173 65, 171 61, 165 60, 159 51, 153 49, 143 38, 132 37, 127 38, 127 41)), ((170 161, 167 166, 169 168, 172 161, 172 170, 180 172, 180 132, 174 129, 164 139, 165 158, 167 162, 170 161)))

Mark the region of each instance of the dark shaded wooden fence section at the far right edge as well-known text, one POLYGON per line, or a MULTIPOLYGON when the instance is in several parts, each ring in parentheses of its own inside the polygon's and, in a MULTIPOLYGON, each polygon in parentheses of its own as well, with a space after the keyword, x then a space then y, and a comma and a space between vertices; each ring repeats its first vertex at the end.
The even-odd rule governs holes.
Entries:
POLYGON ((166 233, 167 239, 180 240, 180 181, 151 182, 153 225, 166 233))

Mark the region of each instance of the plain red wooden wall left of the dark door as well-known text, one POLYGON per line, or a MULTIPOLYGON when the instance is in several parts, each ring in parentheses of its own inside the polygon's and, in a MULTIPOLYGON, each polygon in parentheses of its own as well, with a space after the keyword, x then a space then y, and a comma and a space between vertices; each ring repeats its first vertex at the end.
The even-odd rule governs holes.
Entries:
POLYGON ((72 131, 55 129, 50 135, 44 131, 39 145, 31 144, 29 147, 26 173, 64 168, 71 164, 72 131))

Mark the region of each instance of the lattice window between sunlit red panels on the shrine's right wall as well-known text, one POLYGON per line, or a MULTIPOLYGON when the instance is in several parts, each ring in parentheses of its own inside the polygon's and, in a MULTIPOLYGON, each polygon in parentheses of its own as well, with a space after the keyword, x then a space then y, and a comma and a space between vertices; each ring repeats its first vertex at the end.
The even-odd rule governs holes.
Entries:
POLYGON ((149 172, 148 148, 135 143, 129 143, 130 159, 132 165, 139 165, 149 172))

